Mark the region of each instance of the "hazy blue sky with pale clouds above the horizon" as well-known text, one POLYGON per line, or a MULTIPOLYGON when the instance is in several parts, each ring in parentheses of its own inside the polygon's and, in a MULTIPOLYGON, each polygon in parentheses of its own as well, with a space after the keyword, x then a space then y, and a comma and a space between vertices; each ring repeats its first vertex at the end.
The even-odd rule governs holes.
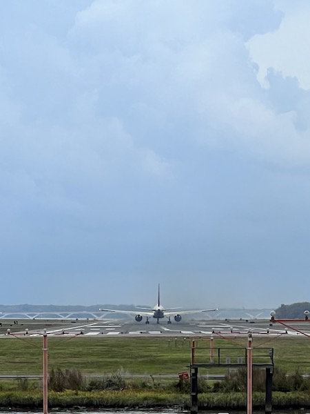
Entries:
POLYGON ((0 303, 308 302, 308 0, 3 0, 0 303))

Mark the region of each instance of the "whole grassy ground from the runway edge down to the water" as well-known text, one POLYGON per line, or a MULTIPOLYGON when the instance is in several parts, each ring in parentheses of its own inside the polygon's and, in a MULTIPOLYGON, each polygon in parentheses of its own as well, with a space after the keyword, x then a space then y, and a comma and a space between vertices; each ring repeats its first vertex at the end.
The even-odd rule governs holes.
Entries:
MULTIPOLYGON (((179 406, 188 408, 189 385, 180 384, 178 373, 187 371, 191 362, 192 338, 168 339, 167 337, 49 337, 49 372, 78 370, 83 377, 80 388, 49 392, 50 406, 72 407, 151 407, 179 406), (130 375, 143 375, 134 378, 130 375), (165 375, 174 375, 167 378, 165 375), (98 378, 96 378, 98 377, 98 378), (105 378, 103 381, 102 379, 105 378), (94 386, 90 386, 90 382, 94 386), (116 383, 121 385, 117 385, 116 383), (82 384, 83 383, 83 384, 82 384), (103 384, 104 383, 104 384, 103 384), (110 384, 110 385, 107 385, 110 384), (100 389, 103 386, 103 389, 100 389), (118 389, 111 389, 117 388, 118 389), (121 388, 121 389, 120 389, 121 388)), ((247 338, 229 337, 214 339, 214 347, 231 347, 244 355, 247 338)), ((274 348, 276 368, 287 373, 310 373, 310 339, 288 337, 278 339, 254 337, 254 347, 274 348), (269 340, 270 339, 270 340, 269 340)), ((41 337, 6 337, 0 340, 0 375, 39 375, 42 373, 41 337)), ((197 339, 197 362, 209 361, 209 339, 197 339)), ((225 373, 226 368, 209 368, 201 374, 225 373)), ((255 383, 254 375, 254 383, 255 383)), ((260 376, 260 375, 258 375, 260 376)), ((291 382, 293 392, 273 393, 273 405, 310 406, 310 387, 298 384, 299 375, 291 382), (297 378, 297 380, 296 380, 297 378)), ((231 382, 231 381, 230 381, 231 382)), ((203 408, 244 408, 246 395, 241 392, 214 387, 214 382, 203 382, 199 402, 203 408), (218 392, 214 392, 214 391, 218 392)), ((254 406, 262 408, 265 396, 254 393, 254 406)), ((1 406, 39 408, 42 406, 41 380, 14 380, 0 382, 1 406)))

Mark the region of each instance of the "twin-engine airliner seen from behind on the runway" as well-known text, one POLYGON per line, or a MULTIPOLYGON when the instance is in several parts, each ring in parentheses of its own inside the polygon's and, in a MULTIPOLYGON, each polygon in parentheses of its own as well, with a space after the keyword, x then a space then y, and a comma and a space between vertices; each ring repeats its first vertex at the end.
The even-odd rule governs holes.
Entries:
POLYGON ((99 309, 99 311, 103 312, 114 312, 114 313, 125 313, 126 315, 135 315, 134 319, 136 319, 136 322, 141 322, 143 319, 143 316, 146 317, 145 324, 149 324, 149 318, 154 317, 157 319, 157 324, 159 324, 159 319, 162 319, 163 317, 168 318, 168 324, 171 324, 171 317, 174 315, 174 320, 176 322, 180 322, 182 319, 181 315, 189 315, 191 313, 200 313, 200 312, 211 312, 211 311, 218 311, 218 308, 216 309, 204 309, 199 311, 177 311, 174 310, 180 309, 180 308, 164 308, 161 306, 161 291, 158 284, 158 300, 157 304, 154 306, 154 308, 140 308, 136 307, 137 309, 141 309, 143 312, 137 313, 137 311, 118 311, 118 309, 99 309))

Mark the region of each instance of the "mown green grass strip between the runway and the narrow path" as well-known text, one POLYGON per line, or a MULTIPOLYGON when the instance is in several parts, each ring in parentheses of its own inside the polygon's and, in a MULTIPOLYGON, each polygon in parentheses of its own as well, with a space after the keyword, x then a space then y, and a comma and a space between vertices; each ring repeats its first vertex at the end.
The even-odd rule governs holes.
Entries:
MULTIPOLYGON (((41 374, 42 337, 0 339, 0 375, 41 374)), ((122 370, 132 375, 177 375, 191 364, 192 338, 167 337, 49 337, 48 366, 76 368, 83 374, 106 374, 122 370)), ((215 337, 215 348, 231 348, 231 355, 245 355, 247 338, 215 337)), ((274 349, 275 366, 287 372, 310 373, 310 338, 283 335, 272 339, 254 337, 254 353, 274 349)), ((216 349, 214 353, 217 353, 216 349)), ((209 339, 196 339, 196 362, 209 362, 209 339)), ((226 373, 208 368, 202 373, 226 373)))

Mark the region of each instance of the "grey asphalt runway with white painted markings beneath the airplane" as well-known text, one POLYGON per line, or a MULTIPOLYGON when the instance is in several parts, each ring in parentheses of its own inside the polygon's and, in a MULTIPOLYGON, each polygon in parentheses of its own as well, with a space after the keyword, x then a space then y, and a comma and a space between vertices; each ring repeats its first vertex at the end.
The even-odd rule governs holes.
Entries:
POLYGON ((138 337, 138 336, 163 336, 163 337, 210 337, 214 335, 248 335, 249 330, 254 335, 279 335, 287 334, 291 336, 302 336, 303 333, 310 335, 309 322, 279 323, 271 324, 268 320, 249 320, 249 321, 190 321, 190 322, 172 322, 167 324, 163 321, 159 324, 150 322, 128 321, 128 319, 103 319, 103 320, 75 320, 61 321, 57 319, 48 321, 36 321, 36 324, 24 321, 19 326, 12 326, 10 333, 8 330, 0 336, 8 337, 8 335, 42 335, 44 330, 49 336, 53 335, 85 335, 85 337, 138 337))

